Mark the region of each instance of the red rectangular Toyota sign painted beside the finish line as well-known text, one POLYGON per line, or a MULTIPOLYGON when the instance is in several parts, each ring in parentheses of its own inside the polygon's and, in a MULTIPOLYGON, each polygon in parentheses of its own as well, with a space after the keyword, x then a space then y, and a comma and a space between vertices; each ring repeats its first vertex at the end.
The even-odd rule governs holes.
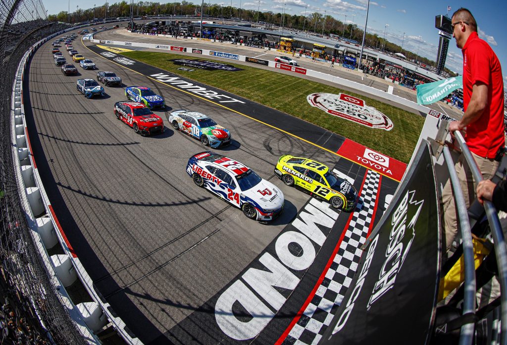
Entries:
POLYGON ((404 162, 373 151, 350 139, 345 139, 337 153, 396 181, 401 181, 407 169, 407 164, 404 162))

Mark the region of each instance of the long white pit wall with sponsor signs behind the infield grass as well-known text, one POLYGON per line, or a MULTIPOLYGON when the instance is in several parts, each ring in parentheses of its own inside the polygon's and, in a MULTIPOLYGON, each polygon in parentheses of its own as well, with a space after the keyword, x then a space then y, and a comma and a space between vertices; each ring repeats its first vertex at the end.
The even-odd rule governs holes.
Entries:
MULTIPOLYGON (((158 35, 158 36, 159 37, 174 37, 171 35, 162 35, 162 34, 158 35)), ((206 40, 206 41, 210 41, 210 42, 215 42, 215 40, 211 40, 211 39, 198 39, 198 38, 188 38, 187 40, 190 40, 190 39, 201 40, 201 41, 206 40)), ((259 64, 259 61, 262 61, 262 63, 261 63, 262 65, 267 66, 267 67, 271 67, 271 68, 275 68, 276 70, 292 72, 296 76, 303 76, 304 75, 304 76, 308 76, 308 77, 317 78, 322 81, 332 82, 332 83, 342 86, 342 87, 354 89, 357 91, 368 93, 373 96, 381 97, 382 99, 390 100, 392 102, 395 102, 399 105, 403 105, 405 107, 413 109, 414 111, 420 112, 422 114, 427 114, 430 111, 430 109, 427 107, 419 105, 416 102, 411 101, 409 99, 393 95, 391 93, 388 93, 387 91, 382 91, 382 90, 376 89, 374 87, 363 85, 360 83, 356 83, 354 81, 340 78, 337 76, 332 76, 332 75, 325 74, 322 72, 309 70, 308 68, 292 66, 292 65, 288 65, 288 64, 284 64, 284 63, 275 62, 275 61, 268 61, 268 60, 263 60, 263 59, 259 59, 259 58, 255 58, 255 57, 231 54, 231 53, 220 52, 220 51, 213 51, 213 50, 209 50, 209 49, 183 47, 183 46, 171 46, 171 45, 161 45, 161 44, 152 44, 152 43, 139 43, 139 42, 130 42, 130 41, 96 40, 96 39, 91 39, 90 42, 98 43, 98 44, 109 44, 109 45, 115 45, 115 46, 122 46, 122 47, 142 47, 142 48, 158 49, 158 50, 166 51, 166 52, 177 51, 177 52, 181 52, 181 53, 189 53, 190 55, 192 55, 192 49, 194 49, 194 50, 198 49, 198 50, 202 51, 202 55, 228 58, 231 60, 249 62, 252 64, 259 64), (173 48, 184 48, 184 49, 183 50, 176 50, 173 48), (210 53, 210 52, 213 52, 213 53, 210 53), (257 62, 253 62, 253 60, 255 60, 257 62)))

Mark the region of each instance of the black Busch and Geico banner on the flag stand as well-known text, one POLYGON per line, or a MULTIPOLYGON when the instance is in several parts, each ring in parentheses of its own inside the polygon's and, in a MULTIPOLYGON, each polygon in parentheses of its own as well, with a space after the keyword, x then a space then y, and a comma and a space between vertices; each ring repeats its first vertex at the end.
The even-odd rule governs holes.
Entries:
POLYGON ((356 274, 319 344, 423 344, 437 301, 440 219, 429 146, 366 240, 356 274))

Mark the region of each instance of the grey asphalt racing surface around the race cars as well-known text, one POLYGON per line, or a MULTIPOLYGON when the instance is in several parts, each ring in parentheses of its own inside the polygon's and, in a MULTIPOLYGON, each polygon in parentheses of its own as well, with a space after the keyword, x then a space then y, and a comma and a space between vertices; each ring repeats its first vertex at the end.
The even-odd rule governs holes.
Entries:
MULTIPOLYGON (((144 343, 167 340, 164 334, 224 289, 308 202, 308 195, 274 176, 280 155, 336 166, 360 186, 366 168, 131 73, 98 58, 80 38, 75 48, 95 61, 95 71, 84 71, 76 63, 80 75, 63 76, 53 63, 51 42, 30 62, 24 103, 31 146, 59 222, 95 288, 144 343), (116 72, 123 87, 105 87, 106 96, 94 99, 76 90, 77 79, 95 78, 104 70, 116 72), (165 97, 168 107, 155 111, 165 121, 163 134, 140 136, 116 119, 113 105, 125 100, 126 85, 148 86, 165 97), (286 200, 282 217, 269 225, 250 221, 239 209, 195 186, 185 172, 187 161, 208 148, 173 131, 167 123, 171 109, 197 110, 229 128, 233 144, 215 151, 278 186, 286 200)), ((390 183, 384 184, 385 193, 397 185, 390 183)), ((342 228, 336 231, 347 218, 340 216, 342 228)), ((322 247, 322 258, 315 261, 320 271, 339 236, 332 234, 322 247)), ((304 300, 312 284, 295 299, 304 300)), ((298 310, 301 302, 294 303, 292 308, 298 310)))

